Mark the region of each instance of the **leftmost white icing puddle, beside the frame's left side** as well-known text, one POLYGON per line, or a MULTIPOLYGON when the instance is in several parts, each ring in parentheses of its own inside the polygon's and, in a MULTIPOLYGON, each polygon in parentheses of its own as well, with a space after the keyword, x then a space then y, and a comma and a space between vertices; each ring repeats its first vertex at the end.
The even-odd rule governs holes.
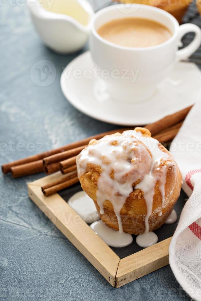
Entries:
POLYGON ((85 193, 79 191, 68 200, 69 206, 88 224, 100 219, 93 200, 85 193))

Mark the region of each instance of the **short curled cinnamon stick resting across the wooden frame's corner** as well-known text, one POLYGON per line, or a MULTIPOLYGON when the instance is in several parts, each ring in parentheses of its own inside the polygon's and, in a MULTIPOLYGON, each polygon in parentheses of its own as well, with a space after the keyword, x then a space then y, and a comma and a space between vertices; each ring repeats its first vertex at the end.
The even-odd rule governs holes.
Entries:
POLYGON ((45 186, 42 186, 41 189, 42 189, 42 192, 44 193, 44 195, 47 197, 51 194, 56 193, 59 190, 67 188, 78 182, 79 182, 79 179, 77 177, 77 172, 75 172, 75 173, 69 174, 65 178, 62 178, 58 181, 54 181, 45 186))

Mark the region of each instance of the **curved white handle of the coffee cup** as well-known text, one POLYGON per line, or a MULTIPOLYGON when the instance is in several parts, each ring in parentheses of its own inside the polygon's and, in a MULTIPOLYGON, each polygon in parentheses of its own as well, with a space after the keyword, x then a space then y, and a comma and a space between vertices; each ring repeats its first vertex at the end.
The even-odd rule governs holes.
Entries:
POLYGON ((201 44, 201 29, 197 25, 191 23, 187 23, 179 26, 178 41, 180 44, 181 44, 182 37, 184 36, 184 34, 188 32, 194 32, 195 37, 188 46, 186 46, 183 49, 177 50, 176 57, 178 61, 185 60, 188 57, 190 57, 191 54, 193 54, 201 44))

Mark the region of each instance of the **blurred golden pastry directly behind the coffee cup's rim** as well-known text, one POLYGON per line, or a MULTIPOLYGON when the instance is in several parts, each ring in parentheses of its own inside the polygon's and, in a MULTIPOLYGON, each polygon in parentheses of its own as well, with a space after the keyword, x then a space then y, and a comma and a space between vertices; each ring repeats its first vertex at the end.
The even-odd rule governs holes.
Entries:
MULTIPOLYGON (((191 4, 192 0, 118 0, 121 3, 138 3, 146 4, 161 8, 174 16, 179 23, 191 4)), ((199 0, 197 0, 199 1, 199 0)))

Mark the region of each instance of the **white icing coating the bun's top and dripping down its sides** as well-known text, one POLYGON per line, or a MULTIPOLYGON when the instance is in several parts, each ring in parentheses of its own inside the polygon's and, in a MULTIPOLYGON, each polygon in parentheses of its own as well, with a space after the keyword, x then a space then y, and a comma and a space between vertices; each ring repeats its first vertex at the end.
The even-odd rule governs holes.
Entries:
POLYGON ((145 137, 139 131, 130 130, 122 134, 108 135, 100 140, 92 140, 89 146, 77 156, 78 178, 86 172, 88 163, 101 166, 101 174, 97 182, 97 203, 103 214, 104 201, 111 201, 121 233, 123 228, 120 210, 133 191, 133 183, 137 180, 140 182, 135 189, 141 189, 144 192, 147 206, 145 233, 149 231, 148 218, 152 213, 157 181, 160 182, 159 189, 164 203, 167 166, 160 167, 159 163, 161 159, 172 161, 172 158, 161 151, 158 145, 159 142, 156 139, 145 137), (111 178, 112 171, 113 177, 111 178))

